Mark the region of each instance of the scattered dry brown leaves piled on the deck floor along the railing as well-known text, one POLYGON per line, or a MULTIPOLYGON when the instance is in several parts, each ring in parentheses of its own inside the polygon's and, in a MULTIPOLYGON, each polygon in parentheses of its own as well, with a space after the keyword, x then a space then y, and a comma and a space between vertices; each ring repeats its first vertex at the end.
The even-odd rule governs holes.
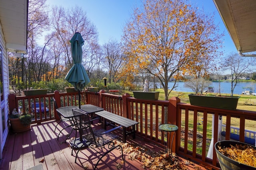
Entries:
MULTIPOLYGON (((123 152, 129 155, 128 159, 136 159, 142 162, 142 168, 144 169, 187 170, 185 165, 186 163, 183 164, 182 160, 180 160, 175 154, 172 156, 169 154, 160 154, 142 145, 130 145, 128 143, 121 143, 118 141, 116 141, 116 145, 122 146, 123 152)), ((120 167, 120 164, 116 167, 120 167)))

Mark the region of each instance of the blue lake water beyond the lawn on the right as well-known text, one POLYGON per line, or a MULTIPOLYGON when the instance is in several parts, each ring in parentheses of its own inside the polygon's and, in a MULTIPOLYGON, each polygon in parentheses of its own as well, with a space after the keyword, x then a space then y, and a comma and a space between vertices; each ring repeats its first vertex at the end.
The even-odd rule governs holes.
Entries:
MULTIPOLYGON (((173 86, 174 82, 168 83, 168 89, 170 89, 173 86)), ((174 91, 177 92, 193 92, 190 88, 184 87, 184 82, 176 82, 177 88, 174 89, 174 91)), ((159 84, 157 84, 158 88, 160 87, 159 84)), ((214 92, 219 92, 219 82, 212 82, 210 86, 214 87, 214 92)), ((236 84, 236 87, 234 89, 234 94, 242 94, 242 91, 244 90, 243 87, 251 87, 256 89, 256 82, 238 82, 236 84)), ((222 94, 230 94, 231 92, 231 82, 220 82, 220 93, 222 94)))

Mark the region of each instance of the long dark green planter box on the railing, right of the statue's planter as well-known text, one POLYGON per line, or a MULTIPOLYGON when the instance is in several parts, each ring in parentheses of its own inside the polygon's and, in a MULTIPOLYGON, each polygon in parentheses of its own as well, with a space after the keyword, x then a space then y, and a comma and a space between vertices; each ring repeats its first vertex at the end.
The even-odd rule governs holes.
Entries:
POLYGON ((240 96, 202 96, 188 94, 191 105, 236 110, 240 96))

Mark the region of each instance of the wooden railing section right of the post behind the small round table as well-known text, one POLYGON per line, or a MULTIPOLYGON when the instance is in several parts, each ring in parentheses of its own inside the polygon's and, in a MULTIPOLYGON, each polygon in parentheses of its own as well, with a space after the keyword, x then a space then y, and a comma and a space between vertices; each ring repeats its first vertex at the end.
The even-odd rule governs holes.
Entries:
POLYGON ((218 161, 210 141, 213 140, 212 143, 215 144, 221 139, 219 131, 222 129, 222 123, 226 124, 226 140, 230 139, 230 128, 233 122, 238 123, 239 141, 244 142, 246 121, 256 121, 256 111, 215 109, 182 103, 177 104, 177 115, 179 127, 179 135, 176 136, 177 153, 213 167, 218 166, 218 161), (200 123, 200 117, 203 118, 203 123, 200 123), (219 124, 220 121, 222 121, 221 124, 219 124), (198 148, 201 150, 198 151, 198 148), (207 157, 208 151, 212 152, 209 156, 211 158, 207 157))

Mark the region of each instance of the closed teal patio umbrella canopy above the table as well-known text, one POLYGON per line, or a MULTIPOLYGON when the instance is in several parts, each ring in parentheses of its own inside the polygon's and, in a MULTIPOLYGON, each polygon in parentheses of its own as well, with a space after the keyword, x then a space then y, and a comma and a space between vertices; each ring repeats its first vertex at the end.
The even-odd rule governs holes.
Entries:
POLYGON ((68 71, 65 79, 72 84, 76 90, 83 90, 86 84, 90 82, 90 79, 84 69, 82 63, 82 45, 84 45, 84 39, 80 33, 75 33, 70 40, 73 66, 68 71))

